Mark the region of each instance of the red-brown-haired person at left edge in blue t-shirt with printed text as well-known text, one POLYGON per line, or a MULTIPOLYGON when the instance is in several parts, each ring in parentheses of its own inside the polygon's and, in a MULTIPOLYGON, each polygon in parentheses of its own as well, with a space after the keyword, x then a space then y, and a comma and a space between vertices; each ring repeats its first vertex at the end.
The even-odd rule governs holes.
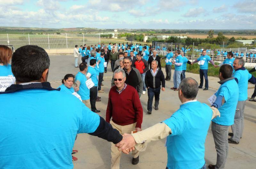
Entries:
POLYGON ((15 83, 12 68, 9 64, 12 58, 12 50, 5 45, 0 45, 0 92, 15 83))

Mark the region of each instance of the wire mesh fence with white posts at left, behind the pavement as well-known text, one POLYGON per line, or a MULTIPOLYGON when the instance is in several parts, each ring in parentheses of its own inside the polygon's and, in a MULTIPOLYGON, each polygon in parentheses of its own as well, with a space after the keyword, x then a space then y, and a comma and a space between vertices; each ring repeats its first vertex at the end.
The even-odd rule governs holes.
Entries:
POLYGON ((74 48, 75 45, 95 45, 100 42, 96 34, 0 34, 1 45, 12 45, 14 49, 24 45, 37 45, 44 49, 74 48))

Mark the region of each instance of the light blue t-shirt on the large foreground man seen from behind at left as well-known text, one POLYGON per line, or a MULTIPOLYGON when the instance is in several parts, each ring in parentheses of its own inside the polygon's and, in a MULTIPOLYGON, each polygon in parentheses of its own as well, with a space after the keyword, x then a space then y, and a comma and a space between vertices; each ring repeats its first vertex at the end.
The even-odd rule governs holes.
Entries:
POLYGON ((0 168, 72 169, 76 134, 100 124, 99 115, 65 92, 26 89, 0 100, 0 168))

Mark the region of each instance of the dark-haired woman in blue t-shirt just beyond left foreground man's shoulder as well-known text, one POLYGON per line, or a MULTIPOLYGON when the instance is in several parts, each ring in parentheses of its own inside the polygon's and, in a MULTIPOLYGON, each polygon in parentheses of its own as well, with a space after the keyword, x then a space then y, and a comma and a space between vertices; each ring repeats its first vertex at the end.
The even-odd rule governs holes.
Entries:
MULTIPOLYGON (((76 82, 74 80, 75 80, 75 76, 73 74, 66 74, 64 76, 64 79, 62 79, 62 81, 61 81, 62 85, 59 86, 60 91, 73 94, 75 92, 74 88, 72 87, 73 84, 75 85, 76 91, 79 90, 79 88, 77 88, 76 82)), ((77 135, 76 135, 76 137, 77 137, 77 135)), ((77 150, 72 150, 71 154, 75 154, 77 152, 78 152, 77 150)), ((76 161, 76 160, 77 160, 77 158, 72 156, 72 161, 76 161)))

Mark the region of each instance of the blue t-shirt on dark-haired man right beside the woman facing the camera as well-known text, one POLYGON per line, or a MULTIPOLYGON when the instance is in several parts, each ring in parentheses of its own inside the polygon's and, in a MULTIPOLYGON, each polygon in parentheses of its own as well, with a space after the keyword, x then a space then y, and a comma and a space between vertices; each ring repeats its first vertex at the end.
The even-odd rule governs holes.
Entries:
POLYGON ((75 81, 80 81, 79 90, 76 93, 78 93, 78 95, 81 96, 82 100, 90 99, 90 89, 88 89, 85 84, 85 82, 87 81, 85 75, 82 74, 81 72, 78 72, 76 74, 75 81))

